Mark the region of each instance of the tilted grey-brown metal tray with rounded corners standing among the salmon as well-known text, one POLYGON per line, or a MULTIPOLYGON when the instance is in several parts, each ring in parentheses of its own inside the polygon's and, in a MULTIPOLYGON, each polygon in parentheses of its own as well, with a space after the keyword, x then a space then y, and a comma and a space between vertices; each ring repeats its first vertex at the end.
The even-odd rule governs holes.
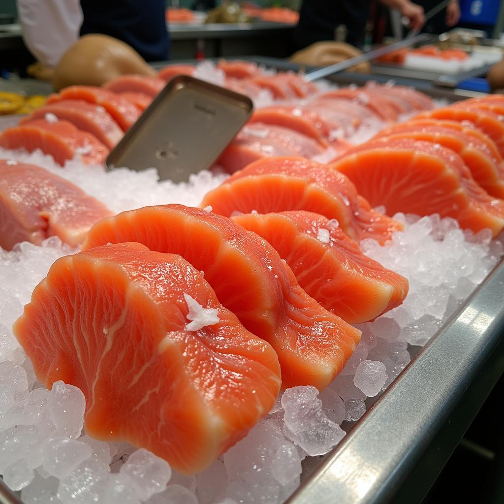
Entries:
POLYGON ((187 181, 191 173, 212 166, 253 108, 248 96, 178 75, 125 133, 105 165, 109 170, 153 166, 160 180, 187 181))

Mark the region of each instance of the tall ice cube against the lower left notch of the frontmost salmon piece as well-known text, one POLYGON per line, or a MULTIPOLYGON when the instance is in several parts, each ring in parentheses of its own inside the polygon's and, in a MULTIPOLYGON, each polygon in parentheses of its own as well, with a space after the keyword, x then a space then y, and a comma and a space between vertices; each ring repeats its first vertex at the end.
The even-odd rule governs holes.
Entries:
POLYGON ((59 435, 72 439, 81 435, 86 399, 80 389, 61 381, 53 383, 48 407, 59 435))

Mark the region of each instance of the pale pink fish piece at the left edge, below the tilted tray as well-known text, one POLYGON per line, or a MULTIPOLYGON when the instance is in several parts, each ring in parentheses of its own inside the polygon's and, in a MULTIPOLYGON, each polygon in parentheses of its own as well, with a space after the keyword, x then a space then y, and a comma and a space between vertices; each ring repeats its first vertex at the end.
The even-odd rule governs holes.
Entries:
POLYGON ((73 183, 31 164, 0 160, 0 246, 40 245, 58 236, 72 246, 112 213, 73 183))

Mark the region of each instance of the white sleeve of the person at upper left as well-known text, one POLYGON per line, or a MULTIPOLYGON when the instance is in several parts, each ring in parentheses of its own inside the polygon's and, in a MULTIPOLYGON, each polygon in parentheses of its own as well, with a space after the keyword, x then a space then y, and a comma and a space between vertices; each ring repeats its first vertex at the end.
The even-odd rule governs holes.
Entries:
POLYGON ((17 0, 23 40, 38 61, 57 66, 79 39, 82 10, 79 0, 17 0))

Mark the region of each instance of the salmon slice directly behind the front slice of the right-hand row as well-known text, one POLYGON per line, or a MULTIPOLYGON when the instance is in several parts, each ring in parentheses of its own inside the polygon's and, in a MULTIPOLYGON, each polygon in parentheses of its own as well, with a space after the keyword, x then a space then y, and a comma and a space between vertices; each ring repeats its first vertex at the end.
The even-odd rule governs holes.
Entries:
POLYGON ((484 135, 481 135, 477 130, 463 128, 460 123, 455 124, 459 125, 462 131, 443 127, 441 122, 443 121, 439 121, 439 123, 431 121, 431 124, 428 121, 396 124, 380 132, 375 138, 411 138, 444 145, 462 158, 474 180, 489 195, 504 198, 502 159, 498 152, 496 152, 497 158, 487 147, 489 142, 482 140, 485 138, 484 135))

